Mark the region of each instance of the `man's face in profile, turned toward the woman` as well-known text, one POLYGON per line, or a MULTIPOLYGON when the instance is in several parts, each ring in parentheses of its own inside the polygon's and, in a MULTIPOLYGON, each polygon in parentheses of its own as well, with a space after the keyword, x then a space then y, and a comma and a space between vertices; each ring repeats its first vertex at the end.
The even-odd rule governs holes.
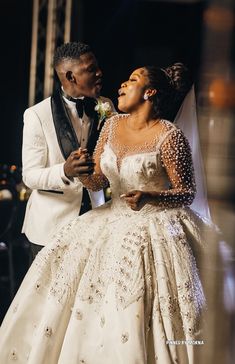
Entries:
POLYGON ((102 72, 93 53, 85 53, 71 64, 73 96, 98 97, 102 87, 102 72))

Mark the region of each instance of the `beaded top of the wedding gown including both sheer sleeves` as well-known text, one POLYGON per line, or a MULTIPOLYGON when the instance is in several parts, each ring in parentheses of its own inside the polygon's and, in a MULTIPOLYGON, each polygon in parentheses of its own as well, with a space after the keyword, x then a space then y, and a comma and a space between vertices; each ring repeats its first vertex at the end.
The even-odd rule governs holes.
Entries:
POLYGON ((115 115, 106 121, 95 150, 102 174, 92 175, 83 183, 98 190, 110 184, 112 199, 131 190, 159 192, 158 205, 189 205, 195 194, 192 158, 189 144, 180 129, 160 120, 161 133, 139 146, 120 143, 116 136, 118 123, 127 115, 115 115))

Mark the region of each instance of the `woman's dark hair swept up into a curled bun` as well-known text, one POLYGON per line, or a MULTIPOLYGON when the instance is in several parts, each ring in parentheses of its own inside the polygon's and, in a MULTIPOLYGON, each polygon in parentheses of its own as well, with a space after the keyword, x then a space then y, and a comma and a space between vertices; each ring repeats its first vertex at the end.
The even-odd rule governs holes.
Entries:
POLYGON ((144 68, 149 78, 147 88, 157 90, 157 93, 151 97, 154 117, 173 121, 192 86, 188 69, 183 63, 174 63, 165 69, 155 66, 144 68))

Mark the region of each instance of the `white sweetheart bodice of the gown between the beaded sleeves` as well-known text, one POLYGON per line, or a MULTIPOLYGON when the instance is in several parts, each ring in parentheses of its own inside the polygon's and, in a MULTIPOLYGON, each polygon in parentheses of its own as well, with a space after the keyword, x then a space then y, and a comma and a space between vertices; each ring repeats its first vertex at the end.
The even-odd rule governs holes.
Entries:
POLYGON ((112 198, 131 191, 161 191, 168 188, 169 181, 161 164, 156 145, 145 146, 142 151, 116 149, 111 143, 104 146, 101 168, 108 178, 112 198))

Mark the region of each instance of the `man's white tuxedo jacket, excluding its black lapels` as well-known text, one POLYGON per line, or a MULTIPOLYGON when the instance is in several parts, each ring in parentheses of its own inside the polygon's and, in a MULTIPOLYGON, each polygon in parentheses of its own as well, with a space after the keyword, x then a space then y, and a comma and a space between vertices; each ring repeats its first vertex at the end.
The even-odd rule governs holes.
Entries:
MULTIPOLYGON (((113 104, 108 101, 112 109, 113 104)), ((65 159, 60 150, 51 98, 30 107, 24 113, 23 181, 32 193, 26 207, 22 232, 35 244, 46 245, 62 226, 78 216, 82 184, 64 176, 65 159)), ((93 195, 92 207, 104 202, 103 191, 93 195), (101 203, 100 203, 101 202, 101 203)))

